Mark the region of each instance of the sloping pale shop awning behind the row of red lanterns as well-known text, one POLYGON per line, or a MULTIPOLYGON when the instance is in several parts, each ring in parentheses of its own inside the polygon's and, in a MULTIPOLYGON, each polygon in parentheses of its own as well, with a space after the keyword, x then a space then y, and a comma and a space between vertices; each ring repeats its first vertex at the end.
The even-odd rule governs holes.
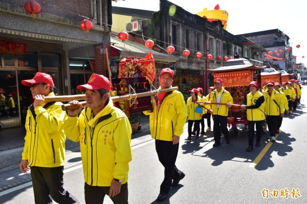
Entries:
POLYGON ((137 56, 138 59, 144 58, 147 56, 148 52, 151 51, 153 58, 156 62, 177 62, 179 61, 179 58, 174 57, 172 55, 159 53, 153 49, 148 49, 144 44, 126 40, 125 42, 122 42, 120 39, 118 39, 117 36, 111 35, 111 58, 114 59, 115 57, 118 57, 118 60, 121 60, 122 58, 131 57, 134 58, 134 56, 137 56))

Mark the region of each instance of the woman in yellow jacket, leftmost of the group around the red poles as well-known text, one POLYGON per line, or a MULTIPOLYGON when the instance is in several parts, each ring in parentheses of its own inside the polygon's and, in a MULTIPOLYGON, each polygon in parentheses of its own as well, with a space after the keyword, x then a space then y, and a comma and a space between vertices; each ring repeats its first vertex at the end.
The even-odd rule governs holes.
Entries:
POLYGON ((205 110, 201 105, 196 104, 196 101, 203 101, 203 99, 198 96, 199 91, 197 89, 192 89, 189 91, 191 97, 187 100, 187 114, 188 114, 188 137, 185 140, 192 140, 192 126, 196 129, 196 135, 194 140, 198 140, 200 138, 200 122, 202 119, 202 114, 205 114, 205 110), (201 108, 201 112, 195 112, 196 107, 201 108))

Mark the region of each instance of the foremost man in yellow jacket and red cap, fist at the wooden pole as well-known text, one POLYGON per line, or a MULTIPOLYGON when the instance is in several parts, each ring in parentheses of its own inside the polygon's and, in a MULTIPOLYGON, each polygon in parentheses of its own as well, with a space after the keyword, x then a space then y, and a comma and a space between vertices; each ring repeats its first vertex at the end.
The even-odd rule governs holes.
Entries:
POLYGON ((132 160, 131 126, 127 116, 109 98, 111 83, 93 73, 85 89, 86 106, 69 110, 65 130, 80 141, 86 203, 103 203, 108 195, 114 203, 128 203, 128 171, 132 160), (81 112, 81 113, 80 113, 81 112), (80 113, 79 117, 77 115, 80 113))

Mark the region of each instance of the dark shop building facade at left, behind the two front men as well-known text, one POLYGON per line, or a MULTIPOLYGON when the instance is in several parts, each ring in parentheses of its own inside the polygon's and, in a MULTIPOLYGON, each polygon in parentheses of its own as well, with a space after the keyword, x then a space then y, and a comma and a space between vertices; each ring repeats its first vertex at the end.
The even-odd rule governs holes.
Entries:
POLYGON ((3 127, 24 122, 33 102, 29 87, 21 80, 46 72, 53 77, 56 94, 79 93, 92 73, 105 74, 105 48, 109 48, 112 24, 111 0, 40 0, 41 12, 32 17, 26 1, 0 0, 0 91, 5 96, 0 110, 3 127), (80 22, 89 19, 93 29, 86 33, 80 22), (8 108, 13 95, 15 109, 8 108))

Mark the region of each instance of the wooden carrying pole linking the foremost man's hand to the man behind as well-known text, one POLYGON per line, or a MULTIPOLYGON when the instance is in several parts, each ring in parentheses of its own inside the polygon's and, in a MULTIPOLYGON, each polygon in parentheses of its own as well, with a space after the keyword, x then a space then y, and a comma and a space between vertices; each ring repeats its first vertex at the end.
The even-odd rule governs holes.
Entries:
MULTIPOLYGON (((134 99, 137 97, 144 97, 144 96, 150 96, 150 95, 158 95, 159 93, 165 93, 168 91, 174 91, 174 90, 178 90, 177 86, 168 88, 168 89, 163 89, 163 90, 153 90, 153 91, 147 91, 147 92, 143 92, 143 93, 133 93, 133 94, 126 94, 126 95, 122 95, 122 96, 112 96, 110 97, 113 102, 117 102, 117 101, 121 101, 121 100, 130 100, 130 99, 134 99)), ((56 96, 58 97, 58 96, 56 96)), ((84 98, 82 98, 84 99, 84 98)), ((86 105, 86 101, 81 101, 79 104, 82 104, 82 106, 86 105)), ((64 104, 62 105, 62 109, 63 111, 67 111, 67 110, 73 110, 73 109, 78 109, 79 106, 78 105, 71 105, 71 104, 64 104)))

